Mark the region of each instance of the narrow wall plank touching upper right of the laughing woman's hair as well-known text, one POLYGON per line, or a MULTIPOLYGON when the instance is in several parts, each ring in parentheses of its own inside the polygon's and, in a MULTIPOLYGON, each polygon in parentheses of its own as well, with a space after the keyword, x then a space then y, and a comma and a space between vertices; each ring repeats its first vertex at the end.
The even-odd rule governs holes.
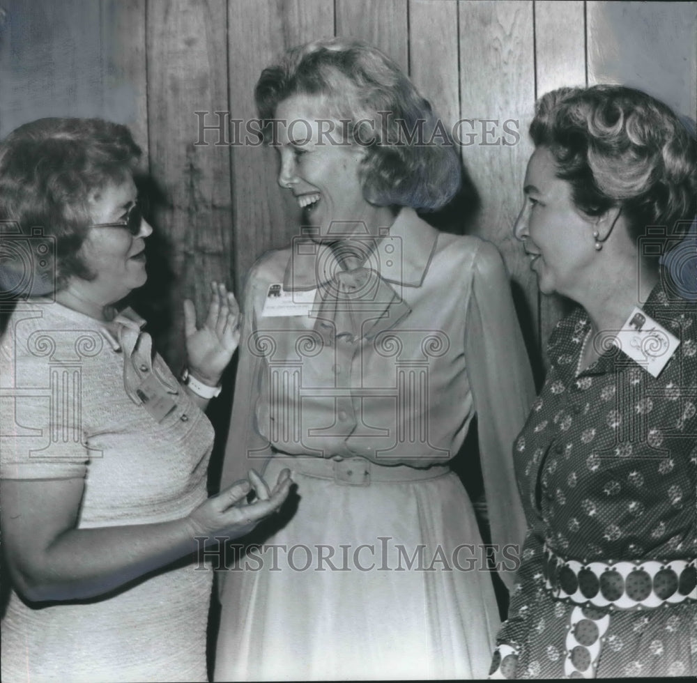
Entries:
POLYGON ((411 79, 451 130, 460 118, 457 0, 409 1, 411 79))

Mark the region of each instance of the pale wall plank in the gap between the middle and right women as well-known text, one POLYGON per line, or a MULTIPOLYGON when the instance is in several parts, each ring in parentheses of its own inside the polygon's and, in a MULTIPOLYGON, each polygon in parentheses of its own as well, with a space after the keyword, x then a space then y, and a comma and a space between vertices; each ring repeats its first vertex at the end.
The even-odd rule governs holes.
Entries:
POLYGON ((463 147, 464 163, 481 200, 474 232, 503 254, 523 334, 534 355, 539 344, 537 281, 513 235, 532 151, 526 130, 535 101, 533 4, 461 1, 459 36, 460 116, 473 119, 477 134, 471 146, 463 147), (516 135, 505 133, 505 121, 516 135))

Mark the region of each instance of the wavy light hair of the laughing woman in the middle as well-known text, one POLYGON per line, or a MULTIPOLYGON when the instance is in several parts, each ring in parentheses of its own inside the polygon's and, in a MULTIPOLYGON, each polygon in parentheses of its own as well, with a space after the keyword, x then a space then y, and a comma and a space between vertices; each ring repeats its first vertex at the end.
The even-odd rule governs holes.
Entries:
POLYGON ((325 98, 330 117, 353 123, 349 133, 354 141, 355 135, 372 138, 362 143, 367 149, 362 167, 367 201, 436 210, 459 190, 461 164, 452 140, 443 139, 442 124, 437 130, 429 101, 376 47, 330 38, 290 49, 280 63, 261 72, 254 93, 259 116, 273 120, 280 102, 298 94, 325 98), (404 144, 405 128, 412 132, 421 122, 422 139, 429 144, 404 144), (369 123, 372 130, 365 135, 369 123))

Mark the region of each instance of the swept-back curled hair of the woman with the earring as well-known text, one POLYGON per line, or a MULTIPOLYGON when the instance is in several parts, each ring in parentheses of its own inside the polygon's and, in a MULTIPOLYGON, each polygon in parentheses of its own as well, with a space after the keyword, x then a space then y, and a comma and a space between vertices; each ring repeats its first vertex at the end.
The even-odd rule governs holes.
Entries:
POLYGON ((659 100, 618 85, 560 88, 537 100, 535 146, 590 216, 620 206, 636 240, 650 225, 672 229, 697 213, 697 142, 659 100))

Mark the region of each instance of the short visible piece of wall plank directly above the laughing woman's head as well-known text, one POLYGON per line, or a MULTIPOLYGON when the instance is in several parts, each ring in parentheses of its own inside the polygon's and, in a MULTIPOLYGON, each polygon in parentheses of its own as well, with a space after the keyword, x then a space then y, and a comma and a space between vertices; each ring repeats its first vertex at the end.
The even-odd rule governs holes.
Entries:
POLYGON ((337 36, 365 40, 408 73, 407 0, 336 0, 337 36))

